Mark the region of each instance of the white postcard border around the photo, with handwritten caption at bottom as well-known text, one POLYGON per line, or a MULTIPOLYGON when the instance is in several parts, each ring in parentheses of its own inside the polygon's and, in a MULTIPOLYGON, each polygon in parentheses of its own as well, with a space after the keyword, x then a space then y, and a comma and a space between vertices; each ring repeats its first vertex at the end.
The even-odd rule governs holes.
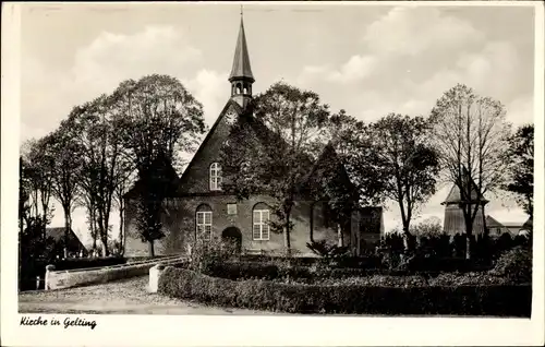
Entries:
MULTIPOLYGON (((159 3, 159 2, 158 2, 159 3)), ((165 3, 165 2, 160 2, 165 3)), ((233 4, 237 2, 214 2, 233 4)), ((244 2, 281 5, 293 2, 244 2)), ((55 5, 55 2, 50 3, 55 5)), ((108 3, 126 7, 147 3, 108 3)), ((204 5, 204 3, 198 3, 204 5)), ((300 5, 342 5, 336 1, 304 2, 300 5)), ((16 294, 17 223, 17 145, 20 115, 20 12, 15 3, 2 7, 2 224, 1 224, 1 339, 8 346, 246 346, 246 345, 543 345, 544 343, 544 11, 532 1, 460 1, 460 2, 360 2, 362 5, 531 5, 535 8, 535 220, 534 279, 531 320, 446 319, 446 318, 360 318, 360 316, 146 316, 82 315, 96 320, 97 327, 58 328, 20 326, 16 294), (263 330, 266 326, 266 330, 263 330)), ((73 4, 76 5, 76 4, 73 4)), ((105 5, 104 3, 101 5, 105 5)), ((51 314, 41 314, 50 319, 51 314)), ((56 315, 64 319, 64 314, 56 315)), ((71 315, 75 318, 75 315, 71 315)))

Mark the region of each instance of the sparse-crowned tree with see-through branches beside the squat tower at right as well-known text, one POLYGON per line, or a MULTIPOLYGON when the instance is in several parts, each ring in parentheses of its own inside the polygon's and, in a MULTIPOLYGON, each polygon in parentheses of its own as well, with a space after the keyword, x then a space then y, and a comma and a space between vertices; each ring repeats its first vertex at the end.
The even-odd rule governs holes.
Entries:
POLYGON ((507 163, 509 124, 501 103, 477 96, 458 84, 447 91, 432 110, 434 146, 446 180, 460 190, 467 234, 467 259, 471 258, 473 222, 486 192, 502 186, 507 163), (474 183, 473 183, 474 182, 474 183))

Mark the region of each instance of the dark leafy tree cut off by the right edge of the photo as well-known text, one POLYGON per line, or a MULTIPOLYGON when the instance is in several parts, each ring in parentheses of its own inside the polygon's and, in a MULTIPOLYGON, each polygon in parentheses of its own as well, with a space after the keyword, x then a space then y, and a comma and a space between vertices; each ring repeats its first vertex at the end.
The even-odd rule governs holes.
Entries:
POLYGON ((509 137, 506 153, 509 165, 509 181, 504 189, 516 193, 518 204, 533 216, 534 201, 534 125, 525 124, 509 137))

